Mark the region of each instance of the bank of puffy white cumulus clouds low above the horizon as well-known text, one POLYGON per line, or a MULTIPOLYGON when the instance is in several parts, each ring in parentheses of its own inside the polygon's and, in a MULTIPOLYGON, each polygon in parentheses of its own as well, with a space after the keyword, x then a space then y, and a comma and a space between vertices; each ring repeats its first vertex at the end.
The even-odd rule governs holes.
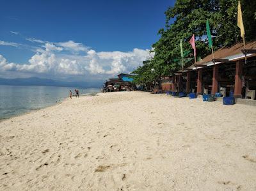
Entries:
POLYGON ((0 55, 1 72, 14 71, 31 73, 31 75, 38 73, 61 79, 72 76, 84 76, 84 80, 106 79, 118 73, 132 72, 150 56, 148 49, 133 49, 129 52, 96 52, 82 43, 71 40, 54 43, 31 38, 30 41, 41 43, 41 45, 28 63, 8 63, 0 55), (79 51, 83 51, 85 55, 77 54, 79 51))

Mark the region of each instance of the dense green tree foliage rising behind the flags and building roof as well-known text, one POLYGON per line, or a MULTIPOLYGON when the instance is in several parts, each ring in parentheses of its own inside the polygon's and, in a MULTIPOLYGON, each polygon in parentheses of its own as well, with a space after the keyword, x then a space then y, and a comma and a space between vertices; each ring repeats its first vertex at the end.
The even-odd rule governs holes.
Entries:
MULTIPOLYGON (((237 0, 177 0, 165 11, 166 26, 159 30, 161 38, 152 45, 155 56, 143 63, 134 73, 136 79, 146 81, 152 77, 171 75, 181 69, 180 39, 183 40, 186 66, 193 63, 193 50, 189 44, 192 34, 196 36, 196 59, 211 54, 208 47, 205 22, 208 19, 214 50, 241 41, 237 27, 237 0), (155 68, 154 75, 150 68, 155 68), (148 79, 147 79, 148 78, 148 79)), ((253 40, 256 33, 256 1, 241 0, 246 40, 253 40)))

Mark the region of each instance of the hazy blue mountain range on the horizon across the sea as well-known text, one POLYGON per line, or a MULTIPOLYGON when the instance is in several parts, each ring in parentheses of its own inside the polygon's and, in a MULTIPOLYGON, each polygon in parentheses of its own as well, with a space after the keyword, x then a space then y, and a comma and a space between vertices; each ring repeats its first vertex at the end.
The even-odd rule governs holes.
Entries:
POLYGON ((60 86, 77 88, 100 88, 103 82, 63 82, 52 79, 40 79, 38 77, 20 78, 20 79, 2 79, 0 85, 10 86, 60 86))

